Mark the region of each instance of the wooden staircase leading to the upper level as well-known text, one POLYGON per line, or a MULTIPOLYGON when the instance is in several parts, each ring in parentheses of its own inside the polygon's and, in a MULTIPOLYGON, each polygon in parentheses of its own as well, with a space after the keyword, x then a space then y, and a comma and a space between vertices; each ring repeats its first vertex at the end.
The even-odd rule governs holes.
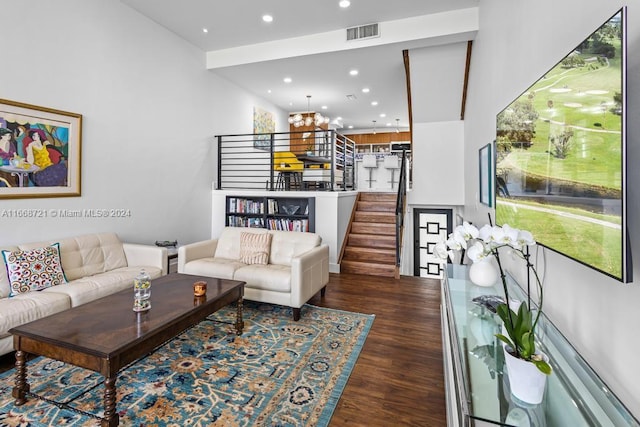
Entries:
POLYGON ((396 194, 359 193, 340 261, 341 273, 398 278, 396 194))

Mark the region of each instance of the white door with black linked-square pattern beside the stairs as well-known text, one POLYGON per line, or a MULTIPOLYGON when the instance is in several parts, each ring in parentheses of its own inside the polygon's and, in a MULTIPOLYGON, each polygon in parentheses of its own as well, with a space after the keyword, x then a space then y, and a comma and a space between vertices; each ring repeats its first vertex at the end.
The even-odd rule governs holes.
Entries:
POLYGON ((442 261, 433 249, 451 233, 452 223, 451 209, 414 209, 414 276, 442 278, 442 261))

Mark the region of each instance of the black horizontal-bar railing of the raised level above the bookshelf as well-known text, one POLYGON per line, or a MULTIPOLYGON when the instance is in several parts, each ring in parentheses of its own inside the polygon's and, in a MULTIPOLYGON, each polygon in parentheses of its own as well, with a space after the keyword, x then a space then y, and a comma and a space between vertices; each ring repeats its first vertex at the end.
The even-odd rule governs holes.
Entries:
POLYGON ((335 130, 217 135, 216 140, 218 190, 355 188, 355 143, 335 130))

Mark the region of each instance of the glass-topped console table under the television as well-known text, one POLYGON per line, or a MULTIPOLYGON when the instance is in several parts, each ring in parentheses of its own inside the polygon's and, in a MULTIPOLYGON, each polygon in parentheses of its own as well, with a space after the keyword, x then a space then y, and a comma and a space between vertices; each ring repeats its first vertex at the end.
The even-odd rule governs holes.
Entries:
MULTIPOLYGON (((510 276, 508 284, 512 298, 526 300, 510 276)), ((502 347, 495 338, 501 321, 472 301, 480 295, 504 296, 502 285, 476 286, 469 281, 467 266, 447 265, 441 311, 449 427, 640 426, 544 313, 537 345, 549 356, 553 373, 541 404, 517 401, 509 391, 502 347)))

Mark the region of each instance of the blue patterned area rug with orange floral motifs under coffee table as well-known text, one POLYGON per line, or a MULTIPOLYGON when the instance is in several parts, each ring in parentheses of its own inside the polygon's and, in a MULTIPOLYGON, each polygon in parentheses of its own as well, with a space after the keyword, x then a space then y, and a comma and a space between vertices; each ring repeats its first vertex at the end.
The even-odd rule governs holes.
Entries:
MULTIPOLYGON (((326 426, 364 345, 372 315, 245 301, 235 335, 226 307, 118 375, 121 426, 326 426), (223 323, 229 322, 229 323, 223 323)), ((102 415, 99 374, 29 362, 31 392, 102 415)), ((14 371, 0 375, 0 426, 97 426, 95 418, 29 397, 15 406, 14 371)))

